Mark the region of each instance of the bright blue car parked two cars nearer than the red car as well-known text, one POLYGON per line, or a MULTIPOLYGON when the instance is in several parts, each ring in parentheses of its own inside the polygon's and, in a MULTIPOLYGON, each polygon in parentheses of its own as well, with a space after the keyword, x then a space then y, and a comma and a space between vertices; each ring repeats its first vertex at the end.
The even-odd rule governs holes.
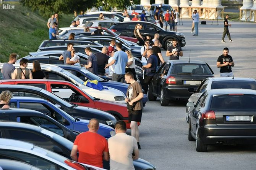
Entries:
MULTIPOLYGON (((10 106, 15 108, 26 108, 31 110, 36 110, 41 113, 47 114, 51 118, 55 119, 60 124, 63 124, 68 129, 86 132, 88 131, 87 125, 89 120, 73 118, 65 111, 58 108, 58 105, 53 105, 51 102, 34 98, 34 97, 13 97, 10 101, 10 106)), ((45 125, 49 127, 49 125, 45 125)), ((55 125, 53 125, 55 126, 55 125)), ((101 124, 98 130, 98 133, 105 138, 110 138, 110 132, 115 131, 112 127, 101 124)))

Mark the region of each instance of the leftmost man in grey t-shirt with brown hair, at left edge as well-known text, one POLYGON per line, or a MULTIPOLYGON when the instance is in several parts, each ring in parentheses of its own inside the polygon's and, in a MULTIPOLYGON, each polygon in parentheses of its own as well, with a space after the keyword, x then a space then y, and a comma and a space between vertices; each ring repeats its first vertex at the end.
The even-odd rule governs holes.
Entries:
POLYGON ((9 56, 9 62, 5 63, 3 65, 3 68, 1 72, 3 73, 3 79, 11 79, 11 76, 13 75, 13 71, 15 70, 15 67, 13 64, 15 64, 17 60, 18 54, 16 53, 11 53, 9 56))

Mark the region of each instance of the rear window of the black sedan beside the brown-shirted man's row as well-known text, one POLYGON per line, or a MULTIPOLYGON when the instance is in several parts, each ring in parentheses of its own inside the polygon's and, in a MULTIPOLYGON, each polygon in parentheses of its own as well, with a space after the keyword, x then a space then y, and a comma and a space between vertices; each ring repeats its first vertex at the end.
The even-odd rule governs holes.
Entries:
POLYGON ((206 64, 175 64, 171 74, 193 74, 193 75, 211 75, 211 71, 206 64))

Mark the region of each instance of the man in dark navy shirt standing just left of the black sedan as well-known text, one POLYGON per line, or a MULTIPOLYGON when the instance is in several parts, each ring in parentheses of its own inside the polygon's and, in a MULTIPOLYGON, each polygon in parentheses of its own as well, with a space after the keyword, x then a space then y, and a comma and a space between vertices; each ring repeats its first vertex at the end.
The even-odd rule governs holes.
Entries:
POLYGON ((142 89, 145 91, 146 94, 148 86, 151 83, 153 76, 156 74, 156 67, 158 62, 157 57, 152 49, 147 50, 147 56, 149 56, 149 58, 147 59, 147 65, 142 66, 142 68, 145 69, 142 89))

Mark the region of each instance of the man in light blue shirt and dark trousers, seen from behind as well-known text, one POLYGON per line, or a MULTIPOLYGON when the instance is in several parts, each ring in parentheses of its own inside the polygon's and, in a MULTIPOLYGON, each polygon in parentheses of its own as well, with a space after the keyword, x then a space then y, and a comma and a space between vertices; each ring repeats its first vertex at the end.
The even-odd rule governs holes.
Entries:
POLYGON ((117 52, 114 53, 113 60, 105 68, 115 64, 115 70, 112 75, 112 81, 125 81, 125 67, 128 64, 128 56, 122 51, 122 43, 117 43, 117 52))

